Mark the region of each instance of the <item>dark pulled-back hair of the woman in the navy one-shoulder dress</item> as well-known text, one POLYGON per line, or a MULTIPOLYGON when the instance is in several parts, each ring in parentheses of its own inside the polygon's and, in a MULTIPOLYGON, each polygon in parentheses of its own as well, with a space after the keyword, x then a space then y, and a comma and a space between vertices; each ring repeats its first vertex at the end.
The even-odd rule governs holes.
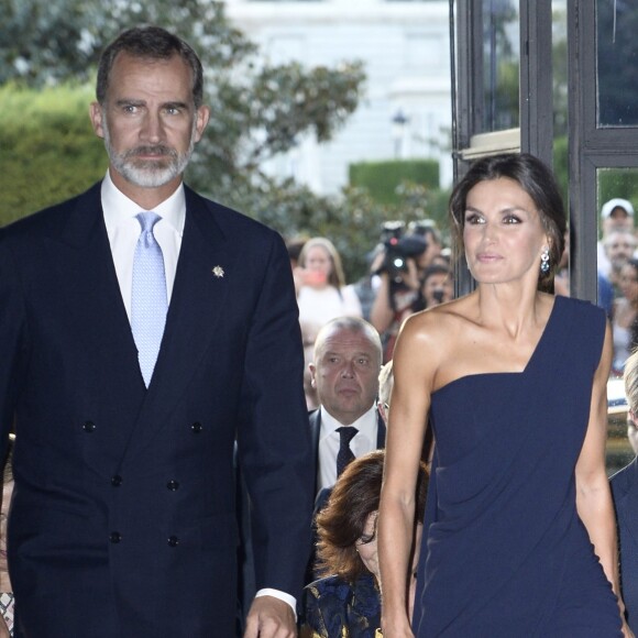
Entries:
POLYGON ((551 289, 556 267, 563 254, 566 216, 552 172, 529 153, 493 155, 477 160, 454 187, 450 197, 450 217, 459 254, 463 252, 468 194, 482 182, 504 177, 516 182, 529 195, 540 215, 542 227, 550 237, 550 268, 547 273, 540 273, 539 270, 539 288, 551 289))

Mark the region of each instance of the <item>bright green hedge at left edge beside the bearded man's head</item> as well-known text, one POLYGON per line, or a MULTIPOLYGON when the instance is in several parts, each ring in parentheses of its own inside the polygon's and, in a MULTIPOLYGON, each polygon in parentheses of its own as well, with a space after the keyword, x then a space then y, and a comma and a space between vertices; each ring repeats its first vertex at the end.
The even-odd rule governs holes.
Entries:
POLYGON ((103 177, 89 87, 0 88, 0 226, 63 201, 103 177))

